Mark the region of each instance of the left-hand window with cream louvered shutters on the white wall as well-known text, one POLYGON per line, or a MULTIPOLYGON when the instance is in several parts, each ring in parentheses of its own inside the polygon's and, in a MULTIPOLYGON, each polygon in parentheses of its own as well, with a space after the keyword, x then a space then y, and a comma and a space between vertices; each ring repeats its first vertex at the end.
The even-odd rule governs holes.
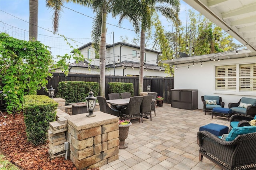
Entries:
POLYGON ((216 66, 216 90, 236 90, 236 65, 216 66))

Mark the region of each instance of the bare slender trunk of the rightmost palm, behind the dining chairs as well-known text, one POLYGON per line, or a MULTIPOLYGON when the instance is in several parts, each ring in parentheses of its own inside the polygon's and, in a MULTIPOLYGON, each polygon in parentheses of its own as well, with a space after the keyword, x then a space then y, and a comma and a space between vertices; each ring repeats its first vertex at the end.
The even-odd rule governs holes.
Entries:
POLYGON ((145 56, 145 31, 140 33, 140 78, 139 78, 139 94, 143 92, 143 77, 144 77, 144 56, 145 56))

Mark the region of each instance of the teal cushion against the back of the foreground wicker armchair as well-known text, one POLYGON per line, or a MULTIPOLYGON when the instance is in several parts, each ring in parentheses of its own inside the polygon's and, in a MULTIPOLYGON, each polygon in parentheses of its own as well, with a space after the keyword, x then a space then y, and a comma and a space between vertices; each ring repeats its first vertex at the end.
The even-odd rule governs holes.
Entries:
POLYGON ((234 127, 226 137, 226 141, 233 141, 238 135, 256 132, 256 126, 234 127))

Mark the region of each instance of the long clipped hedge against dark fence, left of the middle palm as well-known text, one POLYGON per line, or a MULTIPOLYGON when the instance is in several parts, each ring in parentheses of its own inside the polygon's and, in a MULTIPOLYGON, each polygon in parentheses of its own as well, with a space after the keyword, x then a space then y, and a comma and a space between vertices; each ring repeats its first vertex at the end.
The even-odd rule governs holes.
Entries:
POLYGON ((90 90, 98 96, 100 85, 98 82, 66 81, 59 82, 57 97, 63 98, 68 103, 86 102, 90 90))

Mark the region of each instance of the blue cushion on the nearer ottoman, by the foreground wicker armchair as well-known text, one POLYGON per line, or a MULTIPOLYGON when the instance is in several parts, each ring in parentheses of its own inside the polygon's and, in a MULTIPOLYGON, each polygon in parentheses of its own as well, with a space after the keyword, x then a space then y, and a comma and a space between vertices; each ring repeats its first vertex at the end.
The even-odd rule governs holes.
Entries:
POLYGON ((208 131, 216 136, 222 136, 224 133, 228 133, 228 127, 224 125, 209 123, 208 125, 201 126, 199 131, 208 131))

